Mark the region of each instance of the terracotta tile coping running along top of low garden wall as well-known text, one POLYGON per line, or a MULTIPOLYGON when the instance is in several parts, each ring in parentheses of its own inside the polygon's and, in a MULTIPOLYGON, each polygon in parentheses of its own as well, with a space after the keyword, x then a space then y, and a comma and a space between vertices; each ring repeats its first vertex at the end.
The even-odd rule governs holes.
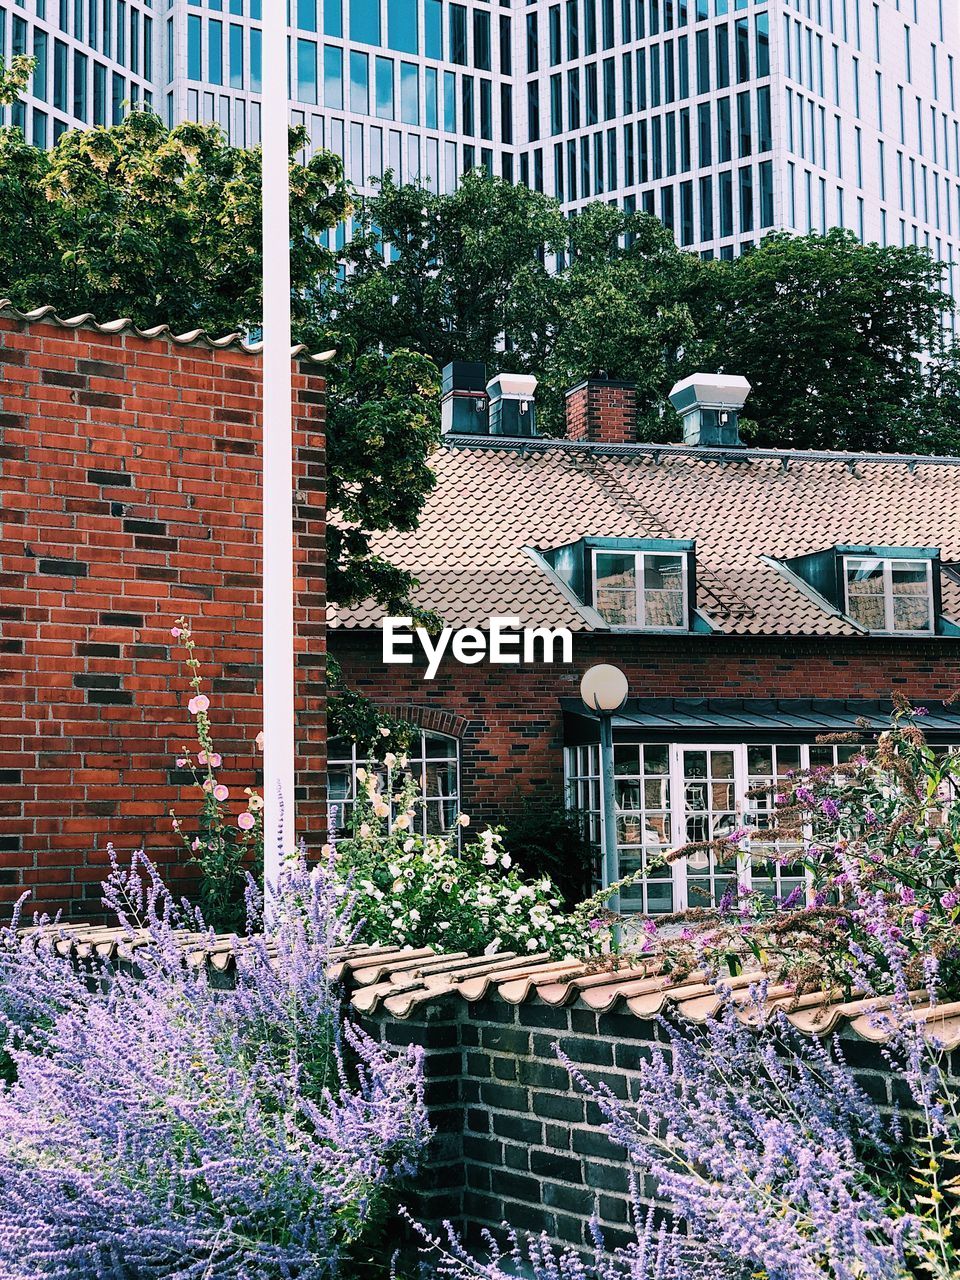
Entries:
MULTIPOLYGON (((134 963, 137 947, 146 941, 136 932, 68 924, 49 931, 24 929, 24 942, 36 942, 44 932, 52 933, 61 955, 77 960, 99 957, 134 963)), ((227 934, 211 945, 209 934, 198 933, 183 934, 182 943, 189 963, 197 968, 209 966, 211 975, 229 974, 237 946, 248 946, 227 934)), ((470 1004, 486 996, 509 1005, 527 1001, 553 1006, 580 1004, 595 1012, 617 1010, 644 1019, 676 1010, 694 1023, 707 1021, 722 1005, 721 995, 703 974, 675 980, 659 972, 655 959, 616 968, 613 961, 598 965, 596 961, 552 960, 543 954, 520 956, 512 951, 470 956, 465 951, 436 954, 431 947, 352 946, 332 952, 330 977, 346 984, 356 1012, 384 1011, 398 1019, 447 997, 470 1004)), ((737 1016, 745 1023, 756 1020, 750 988, 762 978, 756 972, 727 979, 737 1016)), ((960 1002, 931 1007, 924 992, 914 992, 913 998, 914 1015, 924 1021, 927 1034, 947 1050, 960 1047, 960 1002)), ((767 1009, 781 1009, 797 1030, 812 1036, 849 1027, 861 1039, 883 1041, 887 1037, 876 1015, 887 1005, 882 997, 845 1000, 826 991, 796 996, 783 986, 771 986, 767 992, 767 1009)))

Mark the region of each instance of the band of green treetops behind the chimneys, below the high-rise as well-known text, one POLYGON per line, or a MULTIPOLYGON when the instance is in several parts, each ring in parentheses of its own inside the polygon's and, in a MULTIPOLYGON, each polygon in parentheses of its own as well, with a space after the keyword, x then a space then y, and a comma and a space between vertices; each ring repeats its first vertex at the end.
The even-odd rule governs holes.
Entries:
POLYGON ((360 218, 340 333, 534 372, 549 433, 563 433, 563 393, 605 372, 637 384, 639 439, 677 439, 667 394, 707 370, 753 384, 754 444, 960 447, 960 357, 941 326, 952 300, 923 248, 778 233, 704 262, 649 215, 598 201, 566 220, 480 172, 451 196, 388 177, 360 218))

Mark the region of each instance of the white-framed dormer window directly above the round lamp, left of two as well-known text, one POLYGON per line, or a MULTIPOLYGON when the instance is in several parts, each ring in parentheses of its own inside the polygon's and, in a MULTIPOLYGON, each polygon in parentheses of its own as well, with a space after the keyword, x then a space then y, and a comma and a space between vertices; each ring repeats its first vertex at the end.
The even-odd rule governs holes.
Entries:
POLYGON ((593 603, 612 627, 689 631, 686 552, 593 553, 593 603))

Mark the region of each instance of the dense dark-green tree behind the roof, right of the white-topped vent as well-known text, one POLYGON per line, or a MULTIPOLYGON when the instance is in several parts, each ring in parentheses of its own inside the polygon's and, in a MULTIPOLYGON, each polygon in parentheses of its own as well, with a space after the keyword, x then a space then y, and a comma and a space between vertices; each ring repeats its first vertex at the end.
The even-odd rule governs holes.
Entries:
POLYGON ((781 232, 703 273, 696 323, 709 367, 750 380, 753 442, 942 447, 915 422, 929 397, 924 355, 942 351, 942 315, 952 308, 927 251, 861 244, 844 230, 781 232))

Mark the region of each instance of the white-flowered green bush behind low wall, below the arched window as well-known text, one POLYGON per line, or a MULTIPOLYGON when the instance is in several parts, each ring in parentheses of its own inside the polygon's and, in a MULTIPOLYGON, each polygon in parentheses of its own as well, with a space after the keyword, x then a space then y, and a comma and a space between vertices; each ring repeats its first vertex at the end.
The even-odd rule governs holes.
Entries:
POLYGON ((335 844, 335 864, 357 895, 364 941, 474 954, 581 950, 582 934, 561 911, 550 878, 524 879, 499 832, 483 831, 458 847, 466 814, 444 836, 415 829, 420 792, 403 763, 385 756, 388 782, 394 769, 402 773, 396 792, 384 790, 375 769, 357 771, 352 836, 335 844))

